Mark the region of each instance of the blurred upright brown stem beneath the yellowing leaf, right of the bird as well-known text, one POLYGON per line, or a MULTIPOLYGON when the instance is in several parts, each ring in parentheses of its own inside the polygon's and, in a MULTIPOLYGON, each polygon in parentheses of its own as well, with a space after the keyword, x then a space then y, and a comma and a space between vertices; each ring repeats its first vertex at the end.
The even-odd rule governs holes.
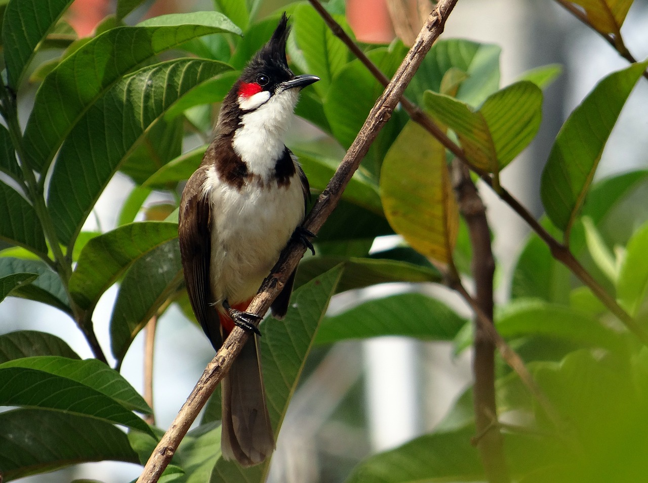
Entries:
MULTIPOLYGON (((480 306, 484 315, 492 321, 495 260, 492 256, 486 207, 470 179, 467 165, 461 163, 459 159, 455 159, 452 168, 459 208, 466 220, 472 246, 472 278, 476 287, 475 302, 480 306)), ((473 325, 473 405, 476 430, 481 435, 480 438, 476 438, 475 444, 480 451, 481 463, 488 481, 506 483, 510 479, 504 456, 504 441, 498 425, 493 424, 493 420, 497 419, 495 344, 482 328, 477 317, 474 319, 473 325)))

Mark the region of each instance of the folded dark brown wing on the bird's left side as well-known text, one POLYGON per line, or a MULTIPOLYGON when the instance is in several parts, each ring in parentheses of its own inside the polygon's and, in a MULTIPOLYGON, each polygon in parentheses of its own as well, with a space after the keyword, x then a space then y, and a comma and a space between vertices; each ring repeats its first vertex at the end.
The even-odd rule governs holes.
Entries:
POLYGON ((189 178, 182 192, 178 213, 178 241, 191 307, 214 349, 218 350, 223 339, 220 335, 218 312, 211 306, 211 207, 209 199, 202 196, 206 175, 206 168, 201 166, 189 178))

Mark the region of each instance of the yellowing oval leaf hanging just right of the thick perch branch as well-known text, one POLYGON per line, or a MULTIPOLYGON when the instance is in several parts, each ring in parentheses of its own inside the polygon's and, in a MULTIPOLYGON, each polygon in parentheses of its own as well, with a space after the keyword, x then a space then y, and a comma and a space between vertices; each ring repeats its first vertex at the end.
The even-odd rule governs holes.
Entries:
POLYGON ((380 194, 395 232, 424 256, 452 264, 459 208, 445 148, 419 124, 408 122, 387 153, 380 194))

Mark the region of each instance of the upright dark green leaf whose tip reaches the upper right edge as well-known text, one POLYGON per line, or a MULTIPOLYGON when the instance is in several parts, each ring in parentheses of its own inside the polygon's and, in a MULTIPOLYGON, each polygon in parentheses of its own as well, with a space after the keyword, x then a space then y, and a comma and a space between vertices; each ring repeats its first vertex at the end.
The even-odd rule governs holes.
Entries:
POLYGON ((569 240, 612 128, 647 62, 608 75, 573 110, 551 148, 542 172, 542 204, 569 240))

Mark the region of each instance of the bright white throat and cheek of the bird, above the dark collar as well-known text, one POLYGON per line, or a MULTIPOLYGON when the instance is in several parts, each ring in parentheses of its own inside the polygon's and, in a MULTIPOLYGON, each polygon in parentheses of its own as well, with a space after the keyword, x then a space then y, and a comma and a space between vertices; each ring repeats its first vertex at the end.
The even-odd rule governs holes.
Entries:
MULTIPOLYGON (((260 94, 260 93, 259 93, 260 94)), ((239 98, 239 107, 244 109, 248 99, 239 98)), ((284 152, 284 137, 290 128, 299 90, 289 89, 275 93, 255 110, 241 117, 233 148, 248 165, 248 171, 268 180, 274 173, 277 159, 284 152)))

